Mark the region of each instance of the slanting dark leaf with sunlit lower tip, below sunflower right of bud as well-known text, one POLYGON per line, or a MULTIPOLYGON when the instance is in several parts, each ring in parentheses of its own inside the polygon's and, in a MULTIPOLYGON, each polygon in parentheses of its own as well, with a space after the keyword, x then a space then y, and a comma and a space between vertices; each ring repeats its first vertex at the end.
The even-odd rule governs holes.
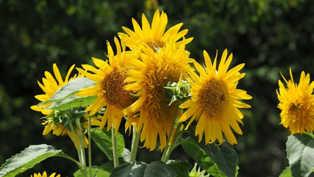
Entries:
POLYGON ((214 177, 227 177, 219 170, 218 166, 211 160, 205 150, 200 148, 191 138, 184 139, 181 145, 187 154, 207 173, 214 177))

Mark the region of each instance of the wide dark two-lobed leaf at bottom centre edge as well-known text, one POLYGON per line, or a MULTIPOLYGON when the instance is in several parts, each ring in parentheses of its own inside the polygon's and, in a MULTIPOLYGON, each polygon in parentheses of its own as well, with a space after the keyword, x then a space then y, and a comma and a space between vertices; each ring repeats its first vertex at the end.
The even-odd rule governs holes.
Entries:
POLYGON ((176 172, 161 161, 147 165, 144 162, 129 162, 112 170, 110 177, 176 177, 176 172))

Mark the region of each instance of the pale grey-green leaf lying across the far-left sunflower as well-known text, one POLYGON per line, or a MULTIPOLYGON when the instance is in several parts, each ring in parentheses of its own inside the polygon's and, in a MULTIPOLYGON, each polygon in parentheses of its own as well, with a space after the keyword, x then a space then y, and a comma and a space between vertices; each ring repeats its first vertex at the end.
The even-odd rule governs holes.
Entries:
POLYGON ((68 82, 66 85, 58 89, 49 100, 44 101, 43 103, 40 103, 39 106, 69 98, 77 94, 80 89, 93 87, 94 83, 95 83, 94 81, 86 77, 79 77, 79 78, 73 79, 70 82, 68 82))

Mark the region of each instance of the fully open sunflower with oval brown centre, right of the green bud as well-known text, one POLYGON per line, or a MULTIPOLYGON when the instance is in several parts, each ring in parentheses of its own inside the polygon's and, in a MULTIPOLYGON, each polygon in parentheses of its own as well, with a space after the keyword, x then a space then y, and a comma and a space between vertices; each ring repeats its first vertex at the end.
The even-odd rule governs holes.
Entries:
POLYGON ((180 106, 181 108, 188 108, 180 118, 180 122, 192 117, 187 124, 187 129, 193 120, 198 121, 195 135, 199 135, 199 142, 205 132, 206 144, 214 142, 216 138, 221 144, 223 143, 223 132, 228 142, 233 145, 237 141, 230 126, 236 133, 242 134, 237 121, 242 123, 243 115, 237 108, 250 108, 249 105, 238 101, 238 99, 252 98, 246 94, 246 91, 236 89, 238 81, 245 75, 245 73, 238 72, 244 64, 239 64, 228 71, 232 54, 226 60, 227 49, 222 54, 218 71, 216 71, 217 54, 213 63, 211 63, 206 51, 204 51, 204 58, 206 69, 194 62, 200 76, 194 72, 189 72, 193 80, 190 81, 192 99, 180 106))

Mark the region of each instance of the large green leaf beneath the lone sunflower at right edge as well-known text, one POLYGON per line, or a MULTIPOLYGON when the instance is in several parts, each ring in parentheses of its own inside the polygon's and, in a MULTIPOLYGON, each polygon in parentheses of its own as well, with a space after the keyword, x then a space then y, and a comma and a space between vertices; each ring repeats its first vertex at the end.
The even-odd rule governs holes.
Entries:
POLYGON ((305 133, 288 136, 287 157, 293 177, 308 177, 314 166, 314 138, 305 133))

